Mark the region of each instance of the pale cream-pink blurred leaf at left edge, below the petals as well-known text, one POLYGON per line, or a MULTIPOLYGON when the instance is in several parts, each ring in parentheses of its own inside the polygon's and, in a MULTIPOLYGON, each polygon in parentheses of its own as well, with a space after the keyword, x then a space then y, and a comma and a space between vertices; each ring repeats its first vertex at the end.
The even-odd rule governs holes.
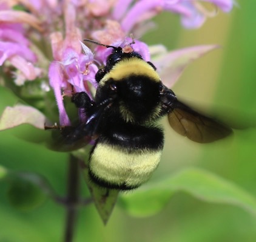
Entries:
POLYGON ((45 122, 46 119, 44 114, 40 113, 32 106, 7 106, 0 118, 0 131, 13 128, 24 123, 33 125, 39 129, 44 129, 45 122))

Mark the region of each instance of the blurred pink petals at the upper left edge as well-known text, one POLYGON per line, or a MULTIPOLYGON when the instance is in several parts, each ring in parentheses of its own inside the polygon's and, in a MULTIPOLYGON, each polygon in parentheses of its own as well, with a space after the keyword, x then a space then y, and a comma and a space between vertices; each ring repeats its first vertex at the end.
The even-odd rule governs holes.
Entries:
POLYGON ((36 54, 31 50, 31 43, 25 36, 23 23, 29 23, 41 29, 34 16, 23 11, 13 11, 7 4, 0 5, 0 65, 9 61, 17 71, 14 74, 16 85, 25 80, 33 80, 41 70, 35 66, 36 54))

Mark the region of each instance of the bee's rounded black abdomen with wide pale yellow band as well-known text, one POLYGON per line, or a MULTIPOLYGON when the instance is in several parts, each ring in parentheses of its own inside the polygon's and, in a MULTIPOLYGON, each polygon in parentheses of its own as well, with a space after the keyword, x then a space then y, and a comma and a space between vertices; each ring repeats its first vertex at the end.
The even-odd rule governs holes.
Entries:
POLYGON ((90 178, 100 186, 121 190, 138 188, 149 180, 160 162, 163 132, 159 128, 147 131, 143 128, 137 133, 139 140, 120 131, 118 135, 114 132, 111 137, 99 137, 90 155, 90 178))

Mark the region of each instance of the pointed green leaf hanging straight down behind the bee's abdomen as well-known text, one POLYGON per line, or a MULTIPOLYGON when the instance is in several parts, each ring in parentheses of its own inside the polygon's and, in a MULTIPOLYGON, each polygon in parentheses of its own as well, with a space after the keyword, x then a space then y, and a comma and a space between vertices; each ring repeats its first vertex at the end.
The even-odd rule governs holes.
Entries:
POLYGON ((119 190, 101 188, 100 186, 96 185, 90 180, 88 174, 88 160, 90 149, 91 146, 87 146, 87 148, 79 149, 78 151, 72 152, 72 154, 81 159, 81 161, 83 161, 82 171, 84 180, 86 181, 86 184, 89 188, 90 194, 92 195, 96 209, 101 219, 103 220, 103 223, 107 224, 107 221, 109 220, 109 217, 112 214, 113 208, 116 204, 119 190))

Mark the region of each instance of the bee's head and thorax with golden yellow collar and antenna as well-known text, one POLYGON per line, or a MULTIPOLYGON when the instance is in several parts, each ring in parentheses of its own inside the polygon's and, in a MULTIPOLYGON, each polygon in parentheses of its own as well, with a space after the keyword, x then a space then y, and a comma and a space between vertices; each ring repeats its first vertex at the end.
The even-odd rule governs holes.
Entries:
POLYGON ((112 97, 126 122, 143 123, 159 114, 161 80, 153 64, 134 51, 132 44, 123 48, 98 44, 113 51, 96 73, 95 99, 112 97))

